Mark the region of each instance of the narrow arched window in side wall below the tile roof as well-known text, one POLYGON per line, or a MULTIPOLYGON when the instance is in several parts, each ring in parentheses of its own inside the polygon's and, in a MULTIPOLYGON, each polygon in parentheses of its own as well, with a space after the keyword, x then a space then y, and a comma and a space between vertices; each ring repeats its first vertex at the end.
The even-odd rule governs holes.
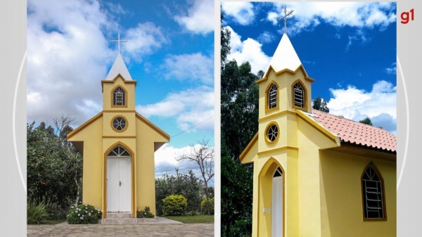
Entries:
POLYGON ((362 198, 364 219, 385 218, 383 178, 372 163, 362 174, 362 198))

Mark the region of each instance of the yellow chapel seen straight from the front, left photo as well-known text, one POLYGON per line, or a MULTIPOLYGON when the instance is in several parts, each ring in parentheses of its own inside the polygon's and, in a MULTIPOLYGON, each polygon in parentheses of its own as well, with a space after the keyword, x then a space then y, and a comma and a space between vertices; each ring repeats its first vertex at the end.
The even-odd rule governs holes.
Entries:
POLYGON ((135 110, 136 80, 119 54, 101 80, 103 110, 68 134, 83 155, 84 203, 98 205, 103 218, 148 206, 155 212, 154 152, 170 136, 135 110))

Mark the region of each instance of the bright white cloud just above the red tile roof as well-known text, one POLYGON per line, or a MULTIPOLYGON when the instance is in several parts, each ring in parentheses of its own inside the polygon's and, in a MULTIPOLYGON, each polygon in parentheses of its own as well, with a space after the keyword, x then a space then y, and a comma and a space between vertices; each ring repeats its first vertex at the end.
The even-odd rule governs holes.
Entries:
POLYGON ((359 121, 365 117, 374 126, 395 133, 397 120, 397 88, 384 80, 373 84, 372 91, 353 86, 347 89, 330 89, 332 98, 327 103, 330 113, 359 121))

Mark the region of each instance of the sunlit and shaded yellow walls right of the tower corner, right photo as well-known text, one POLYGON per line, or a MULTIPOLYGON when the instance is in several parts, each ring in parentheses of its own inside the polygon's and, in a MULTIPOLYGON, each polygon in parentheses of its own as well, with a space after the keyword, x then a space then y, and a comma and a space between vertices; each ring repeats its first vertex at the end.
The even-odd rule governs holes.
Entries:
POLYGON ((396 162, 320 148, 335 142, 298 119, 300 236, 395 236, 396 162), (363 221, 361 177, 373 162, 384 179, 387 221, 363 221))

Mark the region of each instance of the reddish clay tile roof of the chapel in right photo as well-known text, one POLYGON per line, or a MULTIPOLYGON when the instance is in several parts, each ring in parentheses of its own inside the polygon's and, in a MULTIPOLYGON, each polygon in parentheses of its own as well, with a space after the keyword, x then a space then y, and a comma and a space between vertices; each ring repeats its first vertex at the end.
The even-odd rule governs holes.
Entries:
POLYGON ((312 116, 312 118, 334 134, 337 134, 341 142, 396 152, 396 136, 384 129, 324 113, 319 110, 312 110, 312 113, 316 115, 316 117, 312 116))

